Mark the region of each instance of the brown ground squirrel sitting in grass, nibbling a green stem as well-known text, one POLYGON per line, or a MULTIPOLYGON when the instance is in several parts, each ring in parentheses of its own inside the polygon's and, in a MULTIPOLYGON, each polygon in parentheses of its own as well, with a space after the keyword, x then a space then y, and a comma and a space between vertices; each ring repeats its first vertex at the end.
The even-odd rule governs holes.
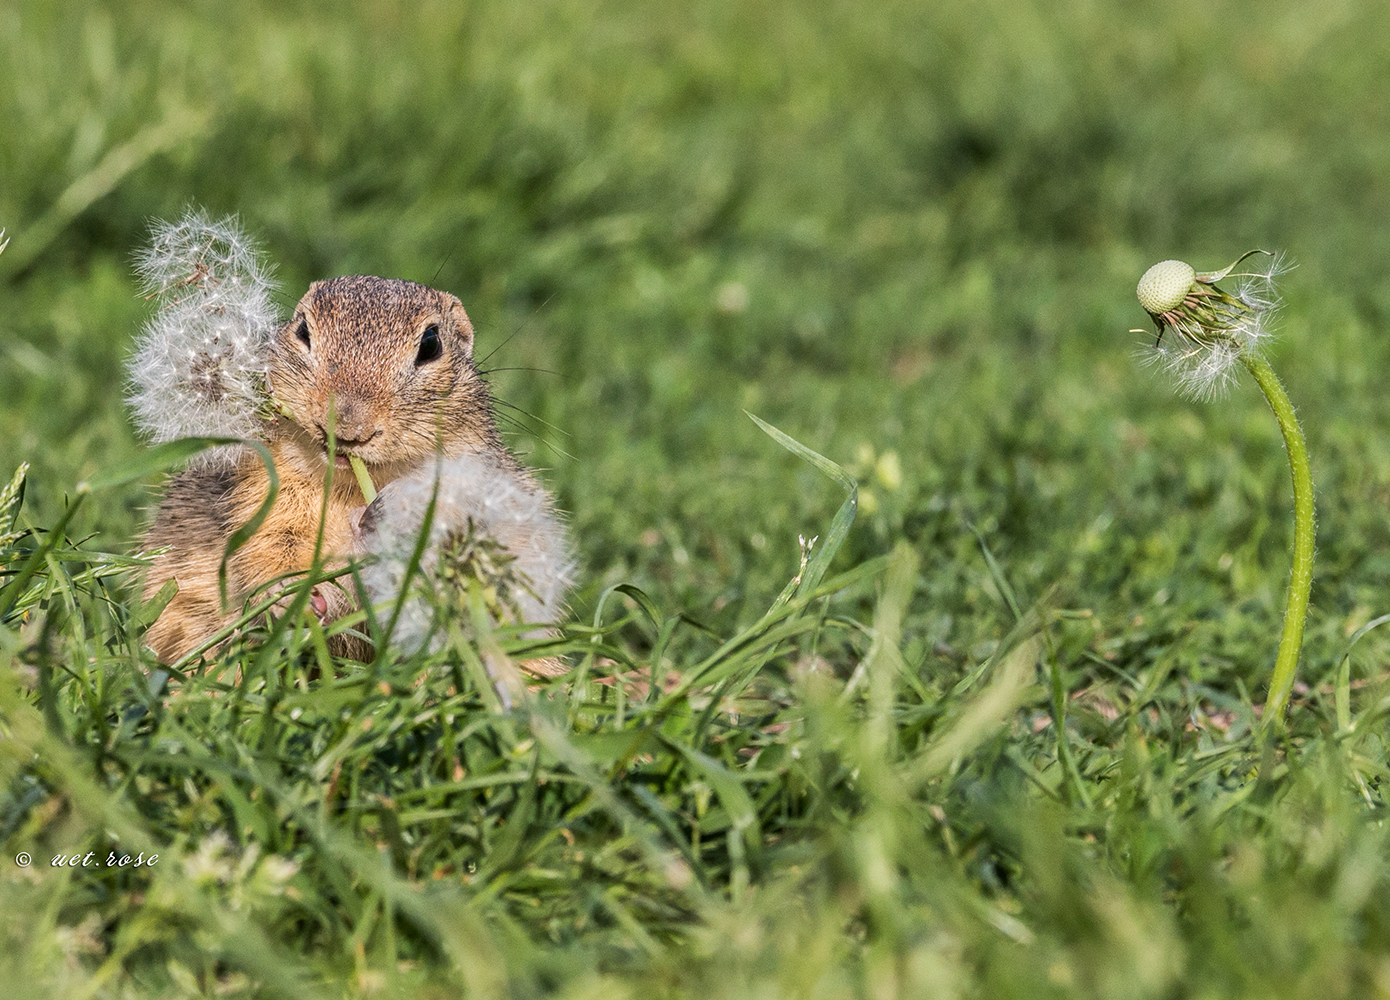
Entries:
MULTIPOLYGON (((178 581, 178 594, 146 634, 163 661, 190 652, 235 620, 261 584, 307 570, 321 510, 327 566, 361 555, 354 522, 366 498, 349 456, 360 459, 377 488, 432 467, 441 456, 486 456, 549 510, 543 490, 498 435, 488 387, 473 363, 473 324, 455 296, 386 278, 320 281, 275 330, 265 357, 265 388, 279 413, 263 437, 279 492, 261 527, 227 562, 224 611, 218 565, 231 534, 265 498, 265 469, 249 449, 231 449, 174 477, 145 538, 146 551, 164 549, 146 577, 146 598, 167 580, 178 581), (331 421, 338 467, 325 503, 331 421)), ((353 611, 356 599, 343 587, 321 584, 311 606, 331 622, 353 611)))

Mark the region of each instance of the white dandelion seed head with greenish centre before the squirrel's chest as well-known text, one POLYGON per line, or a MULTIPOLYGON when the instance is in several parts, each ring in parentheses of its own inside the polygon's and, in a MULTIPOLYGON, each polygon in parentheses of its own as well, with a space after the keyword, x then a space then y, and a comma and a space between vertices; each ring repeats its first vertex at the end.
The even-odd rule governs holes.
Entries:
POLYGON ((438 612, 457 606, 470 580, 482 586, 493 618, 555 622, 575 572, 564 524, 541 485, 492 453, 441 459, 384 487, 366 509, 359 541, 378 558, 361 580, 378 613, 400 595, 436 483, 430 537, 393 641, 411 652, 439 648, 438 612))

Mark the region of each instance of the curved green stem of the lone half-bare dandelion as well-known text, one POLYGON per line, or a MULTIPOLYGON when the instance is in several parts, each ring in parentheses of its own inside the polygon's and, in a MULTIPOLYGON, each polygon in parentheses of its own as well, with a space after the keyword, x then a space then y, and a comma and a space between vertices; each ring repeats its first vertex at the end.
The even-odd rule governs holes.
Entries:
POLYGON ((1289 395, 1280 384, 1275 370, 1264 357, 1245 353, 1241 356, 1250 374, 1259 382, 1259 388, 1269 401, 1269 409, 1275 412, 1279 430, 1284 435, 1284 448, 1289 451, 1289 467, 1294 477, 1294 569, 1289 581, 1289 606, 1284 611, 1284 634, 1279 640, 1279 656, 1275 661, 1275 676, 1269 679, 1269 697, 1265 701, 1265 713, 1261 727, 1282 725, 1284 708, 1289 705, 1289 694, 1294 686, 1294 673, 1298 670, 1298 650, 1302 647, 1304 622, 1308 618, 1308 594, 1312 590, 1312 549, 1314 549, 1314 503, 1312 503, 1312 473, 1308 469, 1308 444, 1304 441, 1302 430, 1298 427, 1298 417, 1294 406, 1289 402, 1289 395))

